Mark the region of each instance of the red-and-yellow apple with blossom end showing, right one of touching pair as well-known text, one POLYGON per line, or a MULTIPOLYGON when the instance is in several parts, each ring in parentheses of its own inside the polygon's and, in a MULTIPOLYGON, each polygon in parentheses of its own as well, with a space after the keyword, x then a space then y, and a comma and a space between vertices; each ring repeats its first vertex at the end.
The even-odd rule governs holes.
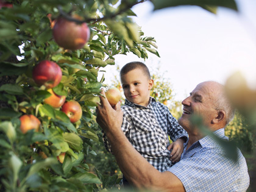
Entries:
POLYGON ((62 112, 66 113, 71 123, 76 123, 82 117, 82 108, 77 101, 67 101, 62 105, 62 112))

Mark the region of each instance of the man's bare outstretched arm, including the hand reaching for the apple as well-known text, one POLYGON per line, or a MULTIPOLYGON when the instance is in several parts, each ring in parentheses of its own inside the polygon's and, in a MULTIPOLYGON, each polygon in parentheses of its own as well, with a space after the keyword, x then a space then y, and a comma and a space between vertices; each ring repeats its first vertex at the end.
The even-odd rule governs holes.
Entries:
MULTIPOLYGON (((105 96, 104 91, 102 95, 105 96)), ((114 108, 107 99, 100 96, 101 105, 97 107, 97 122, 107 135, 116 162, 126 179, 138 188, 163 191, 185 191, 182 182, 171 172, 159 172, 144 159, 127 140, 121 124, 123 112, 120 103, 114 108)))

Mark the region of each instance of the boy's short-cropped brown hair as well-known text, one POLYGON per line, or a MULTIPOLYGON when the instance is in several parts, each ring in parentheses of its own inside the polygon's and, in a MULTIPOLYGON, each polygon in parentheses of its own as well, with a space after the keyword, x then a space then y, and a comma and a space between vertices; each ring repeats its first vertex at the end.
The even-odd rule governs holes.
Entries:
POLYGON ((124 65, 123 68, 121 68, 120 77, 122 77, 124 74, 127 74, 129 71, 132 71, 133 69, 137 68, 142 69, 144 74, 148 77, 148 79, 151 79, 148 67, 141 62, 130 62, 124 65))

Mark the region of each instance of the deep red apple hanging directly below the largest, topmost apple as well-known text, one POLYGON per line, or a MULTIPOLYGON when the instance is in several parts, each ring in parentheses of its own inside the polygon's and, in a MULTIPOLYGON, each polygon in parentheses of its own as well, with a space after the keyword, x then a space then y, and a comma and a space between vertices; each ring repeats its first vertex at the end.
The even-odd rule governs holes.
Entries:
POLYGON ((43 60, 34 67, 32 76, 38 85, 53 88, 62 80, 62 69, 54 62, 43 60))

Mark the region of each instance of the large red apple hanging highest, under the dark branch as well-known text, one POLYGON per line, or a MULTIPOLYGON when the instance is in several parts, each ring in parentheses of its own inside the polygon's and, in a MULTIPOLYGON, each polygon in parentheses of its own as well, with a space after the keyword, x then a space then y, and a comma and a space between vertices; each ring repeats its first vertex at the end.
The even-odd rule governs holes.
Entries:
MULTIPOLYGON (((77 18, 77 16, 73 16, 77 18)), ((90 38, 90 28, 86 23, 77 24, 65 18, 58 18, 52 29, 54 40, 64 49, 81 49, 90 38)))

